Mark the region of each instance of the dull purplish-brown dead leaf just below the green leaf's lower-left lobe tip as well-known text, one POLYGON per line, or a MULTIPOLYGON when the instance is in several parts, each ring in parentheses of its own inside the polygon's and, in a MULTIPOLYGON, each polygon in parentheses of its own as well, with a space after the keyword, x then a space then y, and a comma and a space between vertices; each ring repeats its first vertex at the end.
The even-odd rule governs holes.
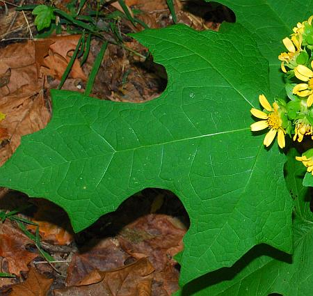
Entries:
POLYGON ((93 270, 108 271, 124 266, 129 257, 111 238, 92 241, 75 254, 67 269, 67 286, 72 286, 93 270))

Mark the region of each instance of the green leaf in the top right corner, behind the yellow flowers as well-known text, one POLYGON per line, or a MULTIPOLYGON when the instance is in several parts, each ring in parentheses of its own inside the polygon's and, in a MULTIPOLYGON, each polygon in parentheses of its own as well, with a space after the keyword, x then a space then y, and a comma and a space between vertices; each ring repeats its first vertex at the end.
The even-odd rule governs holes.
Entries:
MULTIPOLYGON (((209 2, 209 0, 206 0, 209 2)), ((313 0, 220 0, 231 8, 236 22, 248 29, 270 65, 271 95, 285 95, 278 55, 286 52, 282 39, 298 22, 313 14, 313 0)))

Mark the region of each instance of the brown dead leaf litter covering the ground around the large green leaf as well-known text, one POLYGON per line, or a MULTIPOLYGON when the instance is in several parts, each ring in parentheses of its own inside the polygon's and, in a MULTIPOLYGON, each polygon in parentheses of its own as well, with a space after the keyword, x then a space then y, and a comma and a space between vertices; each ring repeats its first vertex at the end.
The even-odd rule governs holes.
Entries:
MULTIPOLYGON (((129 8, 141 10, 138 19, 152 28, 172 24, 166 0, 125 2, 129 8)), ((56 1, 56 6, 64 9, 64 5, 65 1, 56 1)), ((207 23, 201 17, 184 10, 179 1, 175 1, 175 7, 179 22, 194 29, 207 28, 207 23)), ((115 8, 120 10, 117 6, 115 8)), ((18 14, 15 26, 24 21, 21 15, 18 14)), ((0 23, 8 24, 7 17, 2 15, 0 23)), ((29 14, 27 20, 33 28, 29 14)), ((147 49, 126 35, 138 31, 138 27, 128 20, 119 21, 118 26, 124 44, 147 56, 147 49)), ((10 36, 6 30, 8 25, 1 26, 2 38, 10 36)), ((28 30, 29 26, 13 30, 13 35, 18 36, 21 31, 23 35, 28 30)), ((78 38, 58 36, 29 40, 0 49, 1 164, 14 153, 23 135, 38 131, 49 122, 49 89, 57 88, 78 38)), ((74 62, 63 88, 83 91, 87 73, 100 46, 97 40, 92 40, 86 64, 81 68, 79 61, 74 62)), ((145 102, 162 93, 166 79, 163 67, 154 64, 149 57, 143 63, 142 57, 129 54, 120 46, 109 45, 92 95, 102 100, 145 102)), ((13 205, 20 204, 19 198, 17 192, 1 189, 0 207, 13 210, 13 205), (9 202, 6 198, 8 195, 9 202)), ((183 249, 182 237, 188 229, 188 215, 178 198, 170 192, 147 189, 136 194, 125 201, 119 210, 105 215, 94 226, 78 234, 72 232, 67 215, 56 205, 25 197, 23 203, 34 205, 36 210, 18 214, 19 217, 26 217, 39 225, 42 246, 58 259, 56 266, 60 267, 61 274, 38 261, 40 254, 26 248, 33 242, 15 223, 6 220, 0 224, 1 272, 16 274, 17 278, 1 278, 0 291, 3 293, 47 295, 49 291, 49 295, 101 295, 107 291, 108 295, 119 296, 166 296, 178 289, 179 265, 172 256, 183 249), (52 281, 54 283, 51 285, 52 281)), ((28 228, 35 233, 36 226, 29 225, 28 228)))

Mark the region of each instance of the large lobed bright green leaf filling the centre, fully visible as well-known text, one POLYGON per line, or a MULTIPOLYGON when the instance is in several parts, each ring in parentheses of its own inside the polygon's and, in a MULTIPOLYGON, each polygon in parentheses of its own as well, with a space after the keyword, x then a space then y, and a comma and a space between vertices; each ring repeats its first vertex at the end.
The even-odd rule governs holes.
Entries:
POLYGON ((48 198, 75 231, 145 187, 184 203, 181 283, 231 266, 255 244, 291 251, 284 155, 253 137, 249 109, 268 95, 268 61, 250 33, 196 32, 184 25, 136 38, 166 67, 168 87, 145 104, 54 91, 54 116, 22 139, 0 185, 48 198))

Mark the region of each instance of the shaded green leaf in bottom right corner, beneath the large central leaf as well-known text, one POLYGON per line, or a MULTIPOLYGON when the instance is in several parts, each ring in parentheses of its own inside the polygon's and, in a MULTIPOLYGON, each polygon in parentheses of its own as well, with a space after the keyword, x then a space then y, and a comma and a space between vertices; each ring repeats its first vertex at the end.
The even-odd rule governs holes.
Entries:
POLYGON ((312 295, 313 214, 311 192, 303 187, 304 166, 291 150, 286 165, 286 181, 295 200, 294 255, 283 254, 265 244, 248 252, 229 269, 211 272, 189 283, 184 296, 284 296, 312 295))

